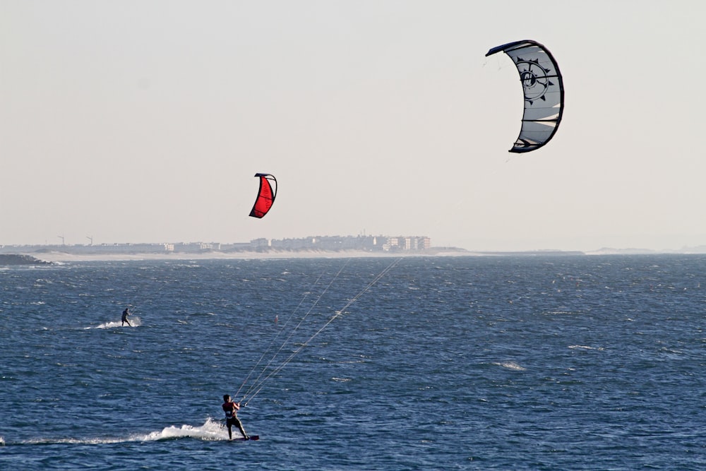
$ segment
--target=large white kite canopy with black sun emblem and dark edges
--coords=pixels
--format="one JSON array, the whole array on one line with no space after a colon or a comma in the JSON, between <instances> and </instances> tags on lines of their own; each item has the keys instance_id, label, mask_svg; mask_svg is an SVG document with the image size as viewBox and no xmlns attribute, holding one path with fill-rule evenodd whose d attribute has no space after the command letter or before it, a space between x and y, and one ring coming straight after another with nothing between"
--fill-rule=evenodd
<instances>
[{"instance_id":1,"label":"large white kite canopy with black sun emblem and dark edges","mask_svg":"<svg viewBox=\"0 0 706 471\"><path fill-rule=\"evenodd\" d=\"M487 56L505 52L515 62L525 93L522 129L510 152L539 149L554 137L564 110L564 83L554 56L539 42L509 42Z\"/></svg>"}]
</instances>

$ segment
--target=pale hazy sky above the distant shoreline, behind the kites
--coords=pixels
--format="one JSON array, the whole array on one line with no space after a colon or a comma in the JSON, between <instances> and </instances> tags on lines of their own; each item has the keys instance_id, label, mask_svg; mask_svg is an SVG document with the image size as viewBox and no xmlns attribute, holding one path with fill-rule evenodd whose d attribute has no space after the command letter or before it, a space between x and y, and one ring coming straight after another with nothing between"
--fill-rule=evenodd
<instances>
[{"instance_id":1,"label":"pale hazy sky above the distant shoreline, behind the kites","mask_svg":"<svg viewBox=\"0 0 706 471\"><path fill-rule=\"evenodd\" d=\"M0 244L706 244L706 2L0 0ZM553 141L508 153L545 44ZM280 184L249 217L256 172Z\"/></svg>"}]
</instances>

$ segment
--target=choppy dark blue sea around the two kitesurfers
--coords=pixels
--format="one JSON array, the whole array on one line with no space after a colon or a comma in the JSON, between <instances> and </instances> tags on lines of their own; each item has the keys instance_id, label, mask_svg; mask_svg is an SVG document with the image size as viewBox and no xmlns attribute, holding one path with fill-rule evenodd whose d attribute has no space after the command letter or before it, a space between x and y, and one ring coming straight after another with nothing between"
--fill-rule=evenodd
<instances>
[{"instance_id":1,"label":"choppy dark blue sea around the two kitesurfers","mask_svg":"<svg viewBox=\"0 0 706 471\"><path fill-rule=\"evenodd\" d=\"M705 470L705 324L703 255L4 267L0 469Z\"/></svg>"}]
</instances>

